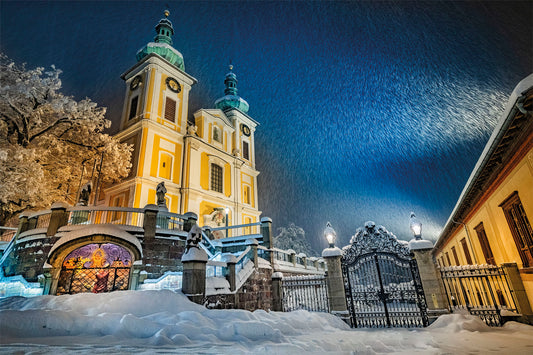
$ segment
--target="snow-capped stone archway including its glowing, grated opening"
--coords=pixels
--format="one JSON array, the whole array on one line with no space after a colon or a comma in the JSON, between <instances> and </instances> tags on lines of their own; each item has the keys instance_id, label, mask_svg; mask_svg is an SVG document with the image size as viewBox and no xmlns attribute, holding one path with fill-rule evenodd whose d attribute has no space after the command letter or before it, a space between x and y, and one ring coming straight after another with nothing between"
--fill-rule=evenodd
<instances>
[{"instance_id":1,"label":"snow-capped stone archway including its glowing, grated opening","mask_svg":"<svg viewBox=\"0 0 533 355\"><path fill-rule=\"evenodd\" d=\"M136 288L140 242L116 227L91 226L62 233L48 255L45 294L112 292Z\"/></svg>"}]
</instances>

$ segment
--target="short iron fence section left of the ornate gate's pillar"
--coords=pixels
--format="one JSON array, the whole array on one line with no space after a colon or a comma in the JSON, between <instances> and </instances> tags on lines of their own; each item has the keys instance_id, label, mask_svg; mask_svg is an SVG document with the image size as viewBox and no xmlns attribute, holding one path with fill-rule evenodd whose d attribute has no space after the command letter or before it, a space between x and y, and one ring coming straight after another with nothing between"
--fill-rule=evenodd
<instances>
[{"instance_id":1,"label":"short iron fence section left of the ornate gate's pillar","mask_svg":"<svg viewBox=\"0 0 533 355\"><path fill-rule=\"evenodd\" d=\"M288 276L282 279L283 312L304 309L329 312L326 277L322 275Z\"/></svg>"}]
</instances>

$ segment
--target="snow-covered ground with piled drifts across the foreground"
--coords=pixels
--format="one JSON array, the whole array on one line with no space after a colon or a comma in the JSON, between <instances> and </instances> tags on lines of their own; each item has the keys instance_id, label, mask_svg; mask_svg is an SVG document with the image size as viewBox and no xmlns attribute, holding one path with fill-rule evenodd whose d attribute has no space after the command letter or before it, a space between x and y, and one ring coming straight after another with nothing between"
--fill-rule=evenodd
<instances>
[{"instance_id":1,"label":"snow-covered ground with piled drifts across the foreground","mask_svg":"<svg viewBox=\"0 0 533 355\"><path fill-rule=\"evenodd\" d=\"M532 354L533 327L452 314L426 329L350 329L325 313L207 310L172 291L0 300L0 353Z\"/></svg>"}]
</instances>

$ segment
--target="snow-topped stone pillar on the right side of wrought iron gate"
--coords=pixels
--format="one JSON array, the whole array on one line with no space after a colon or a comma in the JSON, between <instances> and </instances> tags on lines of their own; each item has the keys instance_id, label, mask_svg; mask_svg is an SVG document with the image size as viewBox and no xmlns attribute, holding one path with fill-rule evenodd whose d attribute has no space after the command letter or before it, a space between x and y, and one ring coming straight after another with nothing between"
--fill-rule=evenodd
<instances>
[{"instance_id":1,"label":"snow-topped stone pillar on the right side of wrought iron gate","mask_svg":"<svg viewBox=\"0 0 533 355\"><path fill-rule=\"evenodd\" d=\"M433 243L429 240L412 239L409 242L409 248L415 255L418 265L418 273L428 307L429 324L431 324L440 315L449 313L448 298L442 277L431 255Z\"/></svg>"}]
</instances>

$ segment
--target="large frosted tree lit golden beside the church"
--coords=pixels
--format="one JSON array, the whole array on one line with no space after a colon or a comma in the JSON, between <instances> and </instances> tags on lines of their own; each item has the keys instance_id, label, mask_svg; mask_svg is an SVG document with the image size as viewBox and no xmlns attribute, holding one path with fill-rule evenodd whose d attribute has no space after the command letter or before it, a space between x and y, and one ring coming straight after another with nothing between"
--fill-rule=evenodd
<instances>
[{"instance_id":1,"label":"large frosted tree lit golden beside the church","mask_svg":"<svg viewBox=\"0 0 533 355\"><path fill-rule=\"evenodd\" d=\"M62 94L60 74L0 54L0 225L26 209L76 202L102 155L102 183L131 167L132 148L104 133L105 108Z\"/></svg>"}]
</instances>

